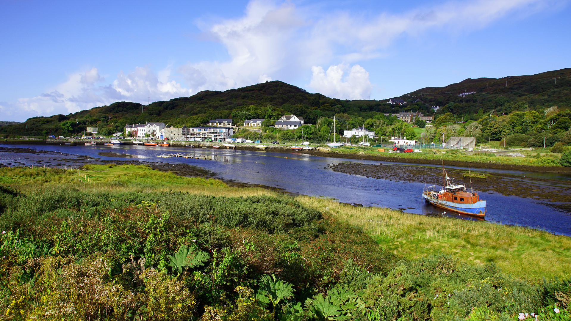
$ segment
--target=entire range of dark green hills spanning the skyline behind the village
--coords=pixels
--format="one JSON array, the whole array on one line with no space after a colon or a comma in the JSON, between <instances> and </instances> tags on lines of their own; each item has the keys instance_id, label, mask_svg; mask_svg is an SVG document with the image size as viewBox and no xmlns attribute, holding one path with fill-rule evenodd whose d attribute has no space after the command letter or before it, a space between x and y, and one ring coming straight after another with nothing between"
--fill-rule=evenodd
<instances>
[{"instance_id":1,"label":"entire range of dark green hills spanning the skyline behind the village","mask_svg":"<svg viewBox=\"0 0 571 321\"><path fill-rule=\"evenodd\" d=\"M440 106L436 118L447 112L464 120L478 120L482 115L508 114L513 111L539 110L558 106L571 107L571 68L542 72L530 76L466 79L445 87L425 87L397 97L405 105L385 100L340 100L280 82L259 83L227 91L201 91L190 97L155 101L149 105L118 101L89 110L31 117L24 123L0 127L4 136L73 135L86 127L98 127L110 135L122 131L126 124L162 121L176 127L203 125L210 119L232 118L235 124L252 118L277 120L288 114L316 124L320 117L338 115L347 126L362 125L364 120L381 117L381 113L420 111L432 113ZM507 82L507 87L506 87ZM460 95L462 93L470 93ZM354 121L352 121L354 120ZM345 127L345 125L343 125ZM344 129L344 128L343 128Z\"/></svg>"}]
</instances>

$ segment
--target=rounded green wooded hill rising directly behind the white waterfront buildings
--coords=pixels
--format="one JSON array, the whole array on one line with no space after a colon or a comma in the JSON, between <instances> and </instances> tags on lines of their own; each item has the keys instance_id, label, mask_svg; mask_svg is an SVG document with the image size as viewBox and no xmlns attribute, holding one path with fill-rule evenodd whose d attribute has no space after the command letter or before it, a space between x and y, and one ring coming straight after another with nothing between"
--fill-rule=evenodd
<instances>
[{"instance_id":1,"label":"rounded green wooded hill rising directly behind the white waterfront buildings","mask_svg":"<svg viewBox=\"0 0 571 321\"><path fill-rule=\"evenodd\" d=\"M340 100L307 91L284 82L255 84L227 91L201 91L190 97L155 101L150 105L118 101L69 115L31 117L27 129L23 123L0 128L0 133L14 136L72 135L86 127L99 127L110 135L122 131L126 124L162 121L182 126L202 125L210 119L232 118L234 123L246 119L277 120L283 115L304 117L305 123L315 124L319 117L337 113L372 118L379 113L398 112L400 106L378 100Z\"/></svg>"}]
</instances>

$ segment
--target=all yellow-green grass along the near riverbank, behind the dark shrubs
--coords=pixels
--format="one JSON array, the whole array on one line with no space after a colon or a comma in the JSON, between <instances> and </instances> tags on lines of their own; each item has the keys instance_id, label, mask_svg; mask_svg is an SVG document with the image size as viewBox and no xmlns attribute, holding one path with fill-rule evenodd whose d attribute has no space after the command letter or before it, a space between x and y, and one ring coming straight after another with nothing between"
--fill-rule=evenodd
<instances>
[{"instance_id":1,"label":"all yellow-green grass along the near riverbank, behind the dark shrubs","mask_svg":"<svg viewBox=\"0 0 571 321\"><path fill-rule=\"evenodd\" d=\"M262 188L231 188L221 181L179 177L147 166L87 165L89 169L0 168L0 182L21 192L38 184L73 184L93 192L130 189L139 192L180 190L212 196L275 195ZM78 173L79 172L79 173ZM87 182L87 178L90 178ZM81 181L80 181L81 179ZM381 208L357 208L334 200L299 196L297 201L357 226L381 247L407 259L449 254L473 265L496 263L523 278L569 276L571 238L524 227L402 213Z\"/></svg>"}]
</instances>

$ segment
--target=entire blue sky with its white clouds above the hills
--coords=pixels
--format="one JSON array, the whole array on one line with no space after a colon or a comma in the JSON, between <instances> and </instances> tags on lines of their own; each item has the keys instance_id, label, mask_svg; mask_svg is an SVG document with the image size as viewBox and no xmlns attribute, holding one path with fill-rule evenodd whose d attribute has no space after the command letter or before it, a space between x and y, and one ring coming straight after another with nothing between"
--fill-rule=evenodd
<instances>
[{"instance_id":1,"label":"entire blue sky with its white clouds above the hills","mask_svg":"<svg viewBox=\"0 0 571 321\"><path fill-rule=\"evenodd\" d=\"M2 0L0 120L265 80L387 99L567 68L569 2Z\"/></svg>"}]
</instances>

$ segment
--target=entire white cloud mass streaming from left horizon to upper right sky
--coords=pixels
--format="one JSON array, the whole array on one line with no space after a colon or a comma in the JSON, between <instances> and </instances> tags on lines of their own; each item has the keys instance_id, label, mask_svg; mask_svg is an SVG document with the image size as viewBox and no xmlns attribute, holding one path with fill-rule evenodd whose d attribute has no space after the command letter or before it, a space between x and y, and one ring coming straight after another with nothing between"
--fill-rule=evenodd
<instances>
[{"instance_id":1,"label":"entire white cloud mass streaming from left horizon to upper right sky","mask_svg":"<svg viewBox=\"0 0 571 321\"><path fill-rule=\"evenodd\" d=\"M324 13L315 6L295 6L289 1L252 0L242 17L200 23L211 39L224 46L226 60L187 62L158 73L135 67L107 83L94 67L70 75L45 94L0 103L0 110L4 115L69 113L118 100L146 103L147 97L168 100L272 79L299 81L307 79L310 71L310 86L322 94L362 99L369 97L372 85L368 72L355 63L386 56L391 44L404 35L472 31L508 15L529 15L561 1L565 0L456 0L400 14L365 15ZM348 64L354 64L350 70ZM316 66L330 67L325 72ZM186 84L173 80L173 73L182 75Z\"/></svg>"}]
</instances>

